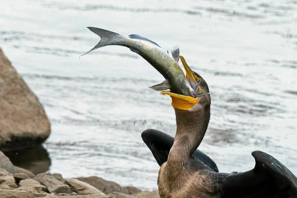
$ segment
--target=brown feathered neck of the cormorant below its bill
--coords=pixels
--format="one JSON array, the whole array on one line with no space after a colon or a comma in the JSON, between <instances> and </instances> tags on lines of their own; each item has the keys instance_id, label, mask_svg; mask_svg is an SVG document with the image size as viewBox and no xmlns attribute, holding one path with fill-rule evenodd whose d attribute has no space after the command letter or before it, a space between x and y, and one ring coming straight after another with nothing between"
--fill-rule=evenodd
<instances>
[{"instance_id":1,"label":"brown feathered neck of the cormorant below its bill","mask_svg":"<svg viewBox=\"0 0 297 198\"><path fill-rule=\"evenodd\" d=\"M210 118L210 103L198 104L192 111L175 109L176 135L167 166L170 176L177 176L189 164L189 158L200 145Z\"/></svg>"}]
</instances>

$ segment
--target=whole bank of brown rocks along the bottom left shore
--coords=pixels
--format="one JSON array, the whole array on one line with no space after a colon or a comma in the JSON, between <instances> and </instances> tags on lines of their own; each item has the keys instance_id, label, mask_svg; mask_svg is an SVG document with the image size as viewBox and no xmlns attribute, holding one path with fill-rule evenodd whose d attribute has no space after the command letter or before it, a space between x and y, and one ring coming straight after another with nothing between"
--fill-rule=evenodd
<instances>
[{"instance_id":1,"label":"whole bank of brown rocks along the bottom left shore","mask_svg":"<svg viewBox=\"0 0 297 198\"><path fill-rule=\"evenodd\" d=\"M159 197L158 191L141 191L92 176L63 178L59 173L34 175L29 170L14 166L0 151L0 197L31 198L137 198Z\"/></svg>"}]
</instances>

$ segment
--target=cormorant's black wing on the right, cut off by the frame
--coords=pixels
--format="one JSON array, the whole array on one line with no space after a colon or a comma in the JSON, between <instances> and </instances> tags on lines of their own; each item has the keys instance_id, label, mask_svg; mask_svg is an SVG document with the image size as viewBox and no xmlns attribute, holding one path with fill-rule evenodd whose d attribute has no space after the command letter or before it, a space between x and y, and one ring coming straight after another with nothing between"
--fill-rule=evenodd
<instances>
[{"instance_id":1,"label":"cormorant's black wing on the right, cut off by the frame","mask_svg":"<svg viewBox=\"0 0 297 198\"><path fill-rule=\"evenodd\" d=\"M222 197L297 197L297 178L274 157L252 152L255 168L218 182Z\"/></svg>"}]
</instances>

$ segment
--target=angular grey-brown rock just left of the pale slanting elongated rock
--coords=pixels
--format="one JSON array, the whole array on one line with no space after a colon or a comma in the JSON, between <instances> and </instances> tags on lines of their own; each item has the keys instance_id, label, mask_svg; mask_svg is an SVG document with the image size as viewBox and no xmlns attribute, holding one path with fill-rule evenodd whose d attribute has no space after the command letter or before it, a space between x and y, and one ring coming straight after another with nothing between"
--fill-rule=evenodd
<instances>
[{"instance_id":1,"label":"angular grey-brown rock just left of the pale slanting elongated rock","mask_svg":"<svg viewBox=\"0 0 297 198\"><path fill-rule=\"evenodd\" d=\"M54 178L51 175L48 174L39 174L36 175L34 177L34 180L37 180L39 182L41 182L43 185L45 185L48 188L48 191L50 193L70 193L72 192L70 190L70 187L63 184L62 182L60 182L59 180L57 180L56 178Z\"/></svg>"}]
</instances>

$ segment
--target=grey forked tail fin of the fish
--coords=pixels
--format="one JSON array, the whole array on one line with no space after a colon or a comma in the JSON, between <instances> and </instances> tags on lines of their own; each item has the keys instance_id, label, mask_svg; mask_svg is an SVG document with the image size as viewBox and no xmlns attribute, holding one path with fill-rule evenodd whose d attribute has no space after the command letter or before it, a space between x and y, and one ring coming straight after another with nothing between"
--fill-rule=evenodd
<instances>
[{"instance_id":1,"label":"grey forked tail fin of the fish","mask_svg":"<svg viewBox=\"0 0 297 198\"><path fill-rule=\"evenodd\" d=\"M104 47L107 45L123 45L124 44L124 40L125 37L122 36L121 34L112 32L112 31L108 31L108 30L104 30L104 29L100 29L100 28L94 28L94 27L87 27L89 30L91 30L92 32L94 32L95 34L97 34L101 40L99 41L99 43L93 47L90 51L88 51L87 53L96 50L97 48L100 47ZM87 53L83 54L86 55ZM81 55L81 56L83 56Z\"/></svg>"}]
</instances>

